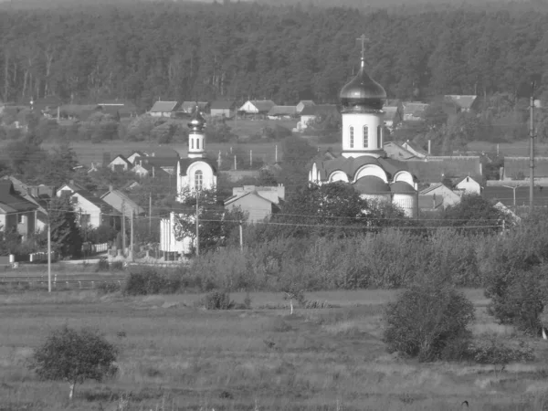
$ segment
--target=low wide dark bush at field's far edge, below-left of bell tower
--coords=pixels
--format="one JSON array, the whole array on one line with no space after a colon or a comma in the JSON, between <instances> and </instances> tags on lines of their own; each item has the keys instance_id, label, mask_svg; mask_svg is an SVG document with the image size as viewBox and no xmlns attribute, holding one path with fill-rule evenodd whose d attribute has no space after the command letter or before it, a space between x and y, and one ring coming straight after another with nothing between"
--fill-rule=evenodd
<instances>
[{"instance_id":1,"label":"low wide dark bush at field's far edge, below-left of bell tower","mask_svg":"<svg viewBox=\"0 0 548 411\"><path fill-rule=\"evenodd\" d=\"M173 294L181 289L181 276L160 273L151 267L133 269L127 276L126 295Z\"/></svg>"}]
</instances>

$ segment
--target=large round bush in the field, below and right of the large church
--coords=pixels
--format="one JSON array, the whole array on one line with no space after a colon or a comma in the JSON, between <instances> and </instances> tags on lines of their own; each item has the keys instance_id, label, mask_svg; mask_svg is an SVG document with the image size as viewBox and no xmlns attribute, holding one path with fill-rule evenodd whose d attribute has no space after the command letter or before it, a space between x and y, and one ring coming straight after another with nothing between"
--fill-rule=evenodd
<instances>
[{"instance_id":1,"label":"large round bush in the field, below and right of the large church","mask_svg":"<svg viewBox=\"0 0 548 411\"><path fill-rule=\"evenodd\" d=\"M384 341L419 361L441 358L448 342L468 337L474 308L466 297L446 284L426 282L404 291L385 311Z\"/></svg>"}]
</instances>

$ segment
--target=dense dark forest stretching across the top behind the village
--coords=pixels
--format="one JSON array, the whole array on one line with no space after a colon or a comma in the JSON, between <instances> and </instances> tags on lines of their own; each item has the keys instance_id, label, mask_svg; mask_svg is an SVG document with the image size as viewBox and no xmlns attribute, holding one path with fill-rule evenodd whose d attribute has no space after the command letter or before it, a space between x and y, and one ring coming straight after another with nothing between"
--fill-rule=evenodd
<instances>
[{"instance_id":1,"label":"dense dark forest stretching across the top behind the village","mask_svg":"<svg viewBox=\"0 0 548 411\"><path fill-rule=\"evenodd\" d=\"M409 14L248 3L0 12L0 97L333 102L359 64L389 97L515 93L548 73L548 11ZM542 92L543 90L539 90Z\"/></svg>"}]
</instances>

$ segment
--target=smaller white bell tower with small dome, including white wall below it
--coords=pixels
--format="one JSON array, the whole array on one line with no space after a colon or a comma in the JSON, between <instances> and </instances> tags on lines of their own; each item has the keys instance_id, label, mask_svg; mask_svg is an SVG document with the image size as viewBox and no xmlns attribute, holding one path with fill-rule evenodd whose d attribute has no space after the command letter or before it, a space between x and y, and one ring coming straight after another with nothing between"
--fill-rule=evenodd
<instances>
[{"instance_id":1,"label":"smaller white bell tower with small dome, including white wall below it","mask_svg":"<svg viewBox=\"0 0 548 411\"><path fill-rule=\"evenodd\" d=\"M188 123L188 155L177 163L177 201L184 196L194 196L202 190L216 187L216 163L205 153L205 120L196 107L192 120ZM167 253L188 254L195 247L193 235L175 237L177 213L172 211L169 218L160 220L160 250Z\"/></svg>"}]
</instances>

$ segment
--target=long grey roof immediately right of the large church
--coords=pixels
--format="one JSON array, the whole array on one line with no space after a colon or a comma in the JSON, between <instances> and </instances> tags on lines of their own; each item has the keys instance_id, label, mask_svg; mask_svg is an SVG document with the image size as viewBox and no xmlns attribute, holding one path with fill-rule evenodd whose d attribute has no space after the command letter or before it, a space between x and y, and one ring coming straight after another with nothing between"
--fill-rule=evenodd
<instances>
[{"instance_id":1,"label":"long grey roof immediately right of the large church","mask_svg":"<svg viewBox=\"0 0 548 411\"><path fill-rule=\"evenodd\" d=\"M482 181L479 156L427 157L421 160L407 160L406 165L421 183L438 183L446 177L466 176Z\"/></svg>"}]
</instances>

